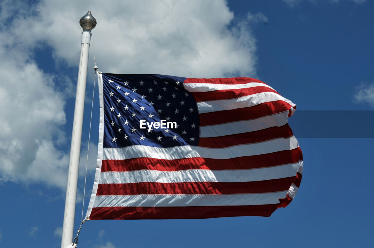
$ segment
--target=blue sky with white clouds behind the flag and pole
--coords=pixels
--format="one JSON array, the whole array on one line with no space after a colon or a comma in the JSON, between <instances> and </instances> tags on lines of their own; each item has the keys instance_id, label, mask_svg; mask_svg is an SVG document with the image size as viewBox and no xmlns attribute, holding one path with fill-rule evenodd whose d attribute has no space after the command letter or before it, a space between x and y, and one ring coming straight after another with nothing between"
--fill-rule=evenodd
<instances>
[{"instance_id":1,"label":"blue sky with white clouds behind the flag and pole","mask_svg":"<svg viewBox=\"0 0 374 248\"><path fill-rule=\"evenodd\" d=\"M92 220L78 247L369 247L373 9L370 0L1 1L0 247L61 245L79 19L88 10L97 26L74 230L86 164L84 214L96 167L95 61L109 73L264 81L297 104L289 123L304 172L295 199L271 217Z\"/></svg>"}]
</instances>

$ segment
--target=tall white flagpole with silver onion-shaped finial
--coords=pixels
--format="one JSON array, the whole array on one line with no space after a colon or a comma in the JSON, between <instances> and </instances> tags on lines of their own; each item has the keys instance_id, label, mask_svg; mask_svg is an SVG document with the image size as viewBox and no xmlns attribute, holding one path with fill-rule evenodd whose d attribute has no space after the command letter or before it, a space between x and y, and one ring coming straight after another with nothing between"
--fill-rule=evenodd
<instances>
[{"instance_id":1,"label":"tall white flagpole with silver onion-shaped finial","mask_svg":"<svg viewBox=\"0 0 374 248\"><path fill-rule=\"evenodd\" d=\"M87 12L80 18L83 28L80 50L80 62L77 80L77 95L75 99L73 133L71 136L68 184L66 189L64 224L62 226L61 248L67 248L73 243L74 216L77 198L80 145L82 141L83 111L85 107L88 53L91 42L91 30L96 26L96 19Z\"/></svg>"}]
</instances>

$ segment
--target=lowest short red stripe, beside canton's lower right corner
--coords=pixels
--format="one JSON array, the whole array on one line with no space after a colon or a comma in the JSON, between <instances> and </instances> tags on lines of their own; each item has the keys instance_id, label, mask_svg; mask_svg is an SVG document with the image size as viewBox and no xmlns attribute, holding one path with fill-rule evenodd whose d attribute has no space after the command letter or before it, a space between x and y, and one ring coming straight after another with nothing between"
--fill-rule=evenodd
<instances>
[{"instance_id":1,"label":"lowest short red stripe, beside canton's lower right corner","mask_svg":"<svg viewBox=\"0 0 374 248\"><path fill-rule=\"evenodd\" d=\"M287 138L292 135L293 134L291 128L288 124L286 124L281 127L269 127L266 129L248 133L238 133L226 136L200 138L199 146L209 148L223 148L227 146L261 142L279 137Z\"/></svg>"}]
</instances>

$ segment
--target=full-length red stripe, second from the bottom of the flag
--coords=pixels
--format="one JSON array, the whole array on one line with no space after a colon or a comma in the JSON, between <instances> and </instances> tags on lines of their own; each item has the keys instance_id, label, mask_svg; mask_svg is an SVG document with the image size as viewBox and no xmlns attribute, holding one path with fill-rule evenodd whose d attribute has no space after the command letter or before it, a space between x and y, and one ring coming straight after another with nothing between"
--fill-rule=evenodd
<instances>
[{"instance_id":1,"label":"full-length red stripe, second from the bottom of the flag","mask_svg":"<svg viewBox=\"0 0 374 248\"><path fill-rule=\"evenodd\" d=\"M222 195L268 193L288 190L295 180L296 176L239 183L108 183L99 184L96 195Z\"/></svg>"}]
</instances>

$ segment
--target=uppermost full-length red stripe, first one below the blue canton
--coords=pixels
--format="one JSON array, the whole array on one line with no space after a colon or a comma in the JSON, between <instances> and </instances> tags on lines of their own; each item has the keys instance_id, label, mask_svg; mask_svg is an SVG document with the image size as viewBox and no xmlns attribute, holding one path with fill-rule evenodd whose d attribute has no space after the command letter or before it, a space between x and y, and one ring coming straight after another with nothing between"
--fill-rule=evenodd
<instances>
[{"instance_id":1,"label":"uppermost full-length red stripe, first one below the blue canton","mask_svg":"<svg viewBox=\"0 0 374 248\"><path fill-rule=\"evenodd\" d=\"M169 160L156 158L132 158L125 160L103 160L101 171L179 171L191 169L243 170L291 164L298 162L300 159L302 159L302 154L301 149L298 147L293 150L230 159L184 158Z\"/></svg>"}]
</instances>

